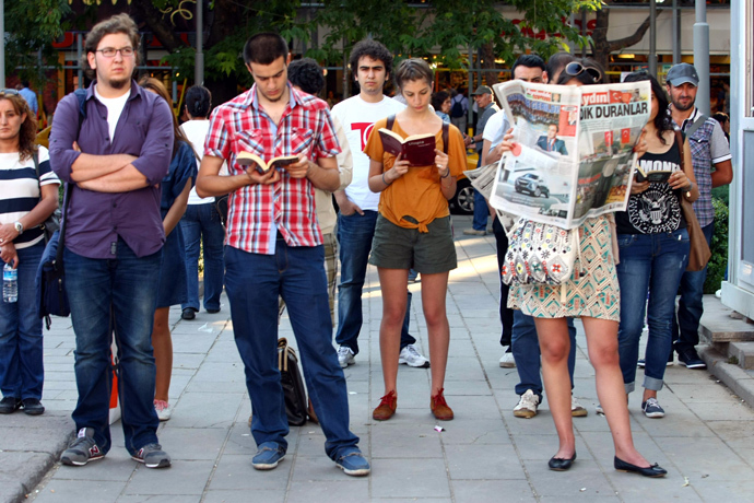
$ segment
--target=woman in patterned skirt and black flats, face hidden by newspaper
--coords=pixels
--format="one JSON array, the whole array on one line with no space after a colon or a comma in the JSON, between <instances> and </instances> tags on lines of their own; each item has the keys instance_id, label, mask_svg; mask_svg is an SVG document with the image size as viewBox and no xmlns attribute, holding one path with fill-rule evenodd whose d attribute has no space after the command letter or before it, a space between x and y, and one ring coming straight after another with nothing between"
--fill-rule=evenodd
<instances>
[{"instance_id":1,"label":"woman in patterned skirt and black flats, face hidden by newspaper","mask_svg":"<svg viewBox=\"0 0 754 503\"><path fill-rule=\"evenodd\" d=\"M590 85L604 82L599 66L582 59L568 63L557 84ZM504 150L511 150L513 134ZM620 292L612 250L609 218L588 219L579 229L580 270L559 286L520 284L510 290L508 306L534 317L542 351L542 375L559 438L557 453L549 466L567 470L576 460L576 438L570 414L568 351L570 341L566 317L580 317L587 335L589 360L594 366L597 394L602 403L615 446L614 467L645 477L663 477L667 471L650 465L634 447L628 408L618 364L617 327Z\"/></svg>"}]
</instances>

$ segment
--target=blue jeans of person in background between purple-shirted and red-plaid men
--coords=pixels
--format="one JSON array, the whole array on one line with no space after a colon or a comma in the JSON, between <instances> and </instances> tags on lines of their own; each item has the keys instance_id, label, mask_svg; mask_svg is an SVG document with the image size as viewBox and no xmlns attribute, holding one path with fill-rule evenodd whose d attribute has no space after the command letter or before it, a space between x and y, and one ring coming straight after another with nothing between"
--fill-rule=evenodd
<instances>
[{"instance_id":1,"label":"blue jeans of person in background between purple-shirted and red-plaid men","mask_svg":"<svg viewBox=\"0 0 754 503\"><path fill-rule=\"evenodd\" d=\"M199 311L199 242L204 247L204 309L220 309L220 294L223 293L225 259L223 241L225 230L214 203L189 204L180 219L186 246L187 307Z\"/></svg>"}]
</instances>

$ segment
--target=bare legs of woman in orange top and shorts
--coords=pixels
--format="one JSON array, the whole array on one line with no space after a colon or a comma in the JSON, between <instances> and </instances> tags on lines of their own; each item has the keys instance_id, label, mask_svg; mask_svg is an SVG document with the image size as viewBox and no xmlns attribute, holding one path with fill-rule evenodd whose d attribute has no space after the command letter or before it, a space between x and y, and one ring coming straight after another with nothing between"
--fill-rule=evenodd
<instances>
[{"instance_id":1,"label":"bare legs of woman in orange top and shorts","mask_svg":"<svg viewBox=\"0 0 754 503\"><path fill-rule=\"evenodd\" d=\"M382 292L382 321L379 326L379 352L382 360L385 395L394 391L398 381L398 355L400 353L401 327L405 315L405 289L409 284L408 269L377 268ZM436 395L445 383L448 362L450 328L445 311L448 291L448 273L422 273L422 304L429 336L429 360L432 361L432 395Z\"/></svg>"}]
</instances>

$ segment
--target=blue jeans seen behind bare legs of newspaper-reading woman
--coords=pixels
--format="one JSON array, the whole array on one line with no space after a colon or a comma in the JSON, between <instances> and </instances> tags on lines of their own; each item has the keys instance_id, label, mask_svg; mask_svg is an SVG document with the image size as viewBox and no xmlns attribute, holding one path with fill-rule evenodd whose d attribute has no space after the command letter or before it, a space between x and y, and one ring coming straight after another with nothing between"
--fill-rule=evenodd
<instances>
[{"instance_id":1,"label":"blue jeans seen behind bare legs of newspaper-reading woman","mask_svg":"<svg viewBox=\"0 0 754 503\"><path fill-rule=\"evenodd\" d=\"M574 366L576 365L576 327L574 318L568 320L568 338L570 339L570 352L568 353L568 374L570 375L570 389L574 388ZM534 391L542 401L542 376L540 375L541 361L540 342L537 337L534 318L520 311L514 311L513 334L514 360L520 383L516 385L516 395L523 395L527 389Z\"/></svg>"}]
</instances>

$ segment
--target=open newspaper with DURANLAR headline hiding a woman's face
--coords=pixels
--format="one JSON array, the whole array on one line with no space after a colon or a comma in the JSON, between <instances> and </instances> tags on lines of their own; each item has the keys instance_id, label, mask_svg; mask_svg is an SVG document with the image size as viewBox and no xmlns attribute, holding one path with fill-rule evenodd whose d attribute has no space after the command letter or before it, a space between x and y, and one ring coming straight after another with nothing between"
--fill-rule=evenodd
<instances>
[{"instance_id":1,"label":"open newspaper with DURANLAR headline hiding a woman's face","mask_svg":"<svg viewBox=\"0 0 754 503\"><path fill-rule=\"evenodd\" d=\"M500 160L490 203L564 229L625 211L647 124L649 82L494 85L514 126L514 149Z\"/></svg>"}]
</instances>

